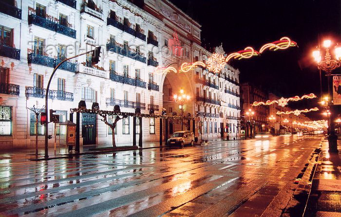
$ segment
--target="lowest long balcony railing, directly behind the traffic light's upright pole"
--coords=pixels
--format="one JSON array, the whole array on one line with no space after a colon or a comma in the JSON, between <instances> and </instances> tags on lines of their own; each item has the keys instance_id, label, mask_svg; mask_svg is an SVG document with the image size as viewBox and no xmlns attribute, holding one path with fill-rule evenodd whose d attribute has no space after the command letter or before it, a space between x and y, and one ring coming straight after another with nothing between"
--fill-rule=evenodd
<instances>
[{"instance_id":1,"label":"lowest long balcony railing, directly behind the traffic light's upright pole","mask_svg":"<svg viewBox=\"0 0 341 217\"><path fill-rule=\"evenodd\" d=\"M26 97L45 98L46 89L36 87L26 87ZM62 90L49 90L49 99L57 99L62 101L74 101L74 94L72 92L65 92Z\"/></svg>"}]
</instances>

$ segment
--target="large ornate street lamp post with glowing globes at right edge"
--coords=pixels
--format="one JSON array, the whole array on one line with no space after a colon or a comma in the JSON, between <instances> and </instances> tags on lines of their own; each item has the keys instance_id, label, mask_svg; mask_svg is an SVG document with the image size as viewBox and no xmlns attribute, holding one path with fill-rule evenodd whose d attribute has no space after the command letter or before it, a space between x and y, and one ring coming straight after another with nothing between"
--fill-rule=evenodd
<instances>
[{"instance_id":1,"label":"large ornate street lamp post with glowing globes at right edge","mask_svg":"<svg viewBox=\"0 0 341 217\"><path fill-rule=\"evenodd\" d=\"M329 119L329 136L328 136L328 143L329 143L329 152L336 152L338 153L338 145L337 145L337 135L335 134L335 124L334 124L334 115L333 112L333 103L332 103L332 74L331 72L338 67L340 67L340 57L341 57L341 47L335 48L335 56L336 59L332 59L329 51L329 47L331 46L331 40L324 40L323 47L325 48L325 56L324 60L321 58L320 49L313 52L313 57L317 62L317 67L320 70L326 72L326 76L328 77L328 95L329 100L328 104L330 105L330 119Z\"/></svg>"}]
</instances>

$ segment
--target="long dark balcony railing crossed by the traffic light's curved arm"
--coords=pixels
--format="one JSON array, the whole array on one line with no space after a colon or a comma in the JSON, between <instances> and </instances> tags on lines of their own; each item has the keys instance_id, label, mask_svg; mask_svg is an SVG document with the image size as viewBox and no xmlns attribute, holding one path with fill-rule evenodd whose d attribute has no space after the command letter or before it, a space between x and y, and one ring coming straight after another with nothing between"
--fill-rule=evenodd
<instances>
[{"instance_id":1,"label":"long dark balcony railing crossed by the traffic light's curved arm","mask_svg":"<svg viewBox=\"0 0 341 217\"><path fill-rule=\"evenodd\" d=\"M28 54L27 55L27 62L47 66L51 68L55 68L62 60L61 59L55 59L49 56L44 56L40 54ZM71 62L63 62L58 69L69 71L69 72L76 72L76 63Z\"/></svg>"}]
</instances>

